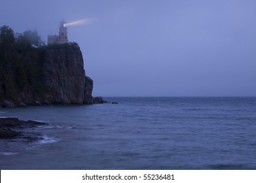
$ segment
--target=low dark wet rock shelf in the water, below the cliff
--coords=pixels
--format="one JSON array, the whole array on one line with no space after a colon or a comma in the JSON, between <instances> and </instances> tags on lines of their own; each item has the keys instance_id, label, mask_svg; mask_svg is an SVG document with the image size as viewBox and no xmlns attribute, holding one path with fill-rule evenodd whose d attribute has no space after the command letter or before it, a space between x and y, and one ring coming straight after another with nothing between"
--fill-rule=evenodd
<instances>
[{"instance_id":1,"label":"low dark wet rock shelf in the water, below the cliff","mask_svg":"<svg viewBox=\"0 0 256 183\"><path fill-rule=\"evenodd\" d=\"M0 139L40 140L39 137L33 133L25 133L26 129L33 129L39 125L48 124L32 120L24 121L18 118L0 118Z\"/></svg>"}]
</instances>

